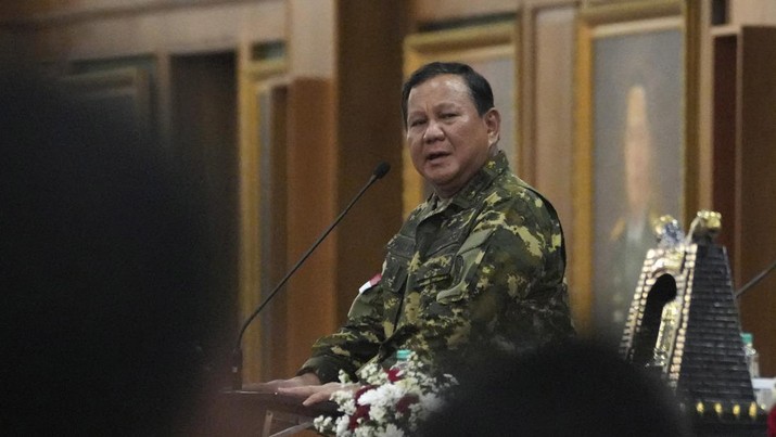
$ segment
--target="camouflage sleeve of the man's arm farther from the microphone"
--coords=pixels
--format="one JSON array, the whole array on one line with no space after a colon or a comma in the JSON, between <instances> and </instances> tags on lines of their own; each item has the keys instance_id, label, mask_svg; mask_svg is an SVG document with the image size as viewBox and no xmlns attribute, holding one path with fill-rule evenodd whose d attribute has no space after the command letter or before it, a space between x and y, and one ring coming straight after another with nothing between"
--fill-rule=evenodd
<instances>
[{"instance_id":1,"label":"camouflage sleeve of the man's arm farther from the microphone","mask_svg":"<svg viewBox=\"0 0 776 437\"><path fill-rule=\"evenodd\" d=\"M574 332L560 227L540 200L534 202L534 208L496 228L468 281L473 320L484 327L496 318L498 335L518 350L560 340ZM498 303L497 309L485 310L492 301Z\"/></svg>"}]
</instances>

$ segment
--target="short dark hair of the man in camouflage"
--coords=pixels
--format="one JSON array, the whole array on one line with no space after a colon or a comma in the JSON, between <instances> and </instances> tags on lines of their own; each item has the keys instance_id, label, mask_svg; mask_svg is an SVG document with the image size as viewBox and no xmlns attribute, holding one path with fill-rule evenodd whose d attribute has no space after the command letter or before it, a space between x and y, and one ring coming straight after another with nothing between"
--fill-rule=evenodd
<instances>
[{"instance_id":1,"label":"short dark hair of the man in camouflage","mask_svg":"<svg viewBox=\"0 0 776 437\"><path fill-rule=\"evenodd\" d=\"M432 62L418 68L409 76L402 88L402 116L404 126L407 127L407 100L412 88L440 75L456 75L463 79L469 88L469 93L474 101L476 112L480 116L485 115L493 107L493 90L487 79L482 77L472 67L459 62Z\"/></svg>"}]
</instances>

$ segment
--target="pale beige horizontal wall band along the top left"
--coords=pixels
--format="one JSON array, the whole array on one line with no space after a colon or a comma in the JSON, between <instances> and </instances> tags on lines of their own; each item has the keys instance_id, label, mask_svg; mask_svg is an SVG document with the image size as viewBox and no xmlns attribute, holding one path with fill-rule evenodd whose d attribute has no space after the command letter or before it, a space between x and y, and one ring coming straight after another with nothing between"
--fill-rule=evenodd
<instances>
[{"instance_id":1,"label":"pale beige horizontal wall band along the top left","mask_svg":"<svg viewBox=\"0 0 776 437\"><path fill-rule=\"evenodd\" d=\"M82 3L88 4L52 7L13 24L21 35L35 37L38 56L44 60L214 51L233 49L245 39L282 40L287 35L281 0L199 2L188 8L162 0L120 7L112 1Z\"/></svg>"}]
</instances>

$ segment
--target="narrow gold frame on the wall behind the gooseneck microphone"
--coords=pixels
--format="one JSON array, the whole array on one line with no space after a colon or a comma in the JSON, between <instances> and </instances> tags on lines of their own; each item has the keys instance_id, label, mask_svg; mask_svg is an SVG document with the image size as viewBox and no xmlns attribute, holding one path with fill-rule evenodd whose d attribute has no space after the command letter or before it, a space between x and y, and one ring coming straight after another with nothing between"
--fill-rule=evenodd
<instances>
[{"instance_id":1,"label":"narrow gold frame on the wall behind the gooseneck microphone","mask_svg":"<svg viewBox=\"0 0 776 437\"><path fill-rule=\"evenodd\" d=\"M247 317L266 298L285 271L287 220L283 202L288 146L288 61L278 43L242 41L238 52L240 252L239 318ZM282 372L285 300L256 321L242 338L244 381L266 381Z\"/></svg>"}]
</instances>

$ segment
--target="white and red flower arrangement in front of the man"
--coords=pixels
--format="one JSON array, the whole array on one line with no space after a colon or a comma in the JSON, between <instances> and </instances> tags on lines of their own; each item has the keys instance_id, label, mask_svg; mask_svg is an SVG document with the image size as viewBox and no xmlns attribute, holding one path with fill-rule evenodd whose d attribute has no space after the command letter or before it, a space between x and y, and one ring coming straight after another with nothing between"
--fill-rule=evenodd
<instances>
[{"instance_id":1,"label":"white and red flower arrangement in front of the man","mask_svg":"<svg viewBox=\"0 0 776 437\"><path fill-rule=\"evenodd\" d=\"M458 384L451 375L434 377L425 368L415 354L403 367L365 365L358 371L358 390L344 389L331 396L342 415L318 416L315 428L338 437L412 435L429 414L443 407L445 391ZM342 371L340 382L352 384Z\"/></svg>"}]
</instances>

